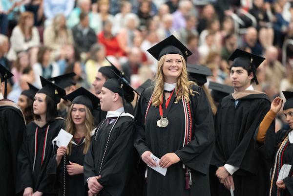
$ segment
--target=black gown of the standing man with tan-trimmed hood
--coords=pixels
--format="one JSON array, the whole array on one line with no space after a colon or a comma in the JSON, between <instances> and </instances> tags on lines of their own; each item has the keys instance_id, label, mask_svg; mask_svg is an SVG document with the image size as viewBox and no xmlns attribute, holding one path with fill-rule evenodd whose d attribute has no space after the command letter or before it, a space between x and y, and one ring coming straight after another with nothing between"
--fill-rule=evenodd
<instances>
[{"instance_id":1,"label":"black gown of the standing man with tan-trimmed hood","mask_svg":"<svg viewBox=\"0 0 293 196\"><path fill-rule=\"evenodd\" d=\"M234 196L267 196L269 163L254 148L254 133L270 110L265 94L250 94L235 100L230 94L223 98L215 118L216 145L211 165L226 163L239 167L233 174ZM269 130L274 130L274 123ZM219 196L230 196L230 190L218 182Z\"/></svg>"}]
</instances>

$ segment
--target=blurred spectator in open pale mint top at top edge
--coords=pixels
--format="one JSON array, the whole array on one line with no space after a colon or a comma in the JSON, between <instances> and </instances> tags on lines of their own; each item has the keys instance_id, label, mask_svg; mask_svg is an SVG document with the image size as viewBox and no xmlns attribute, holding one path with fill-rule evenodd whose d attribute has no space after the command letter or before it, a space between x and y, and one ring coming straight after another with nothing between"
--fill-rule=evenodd
<instances>
[{"instance_id":1,"label":"blurred spectator in open pale mint top at top edge","mask_svg":"<svg viewBox=\"0 0 293 196\"><path fill-rule=\"evenodd\" d=\"M99 22L97 13L90 11L91 1L90 0L77 0L77 7L72 10L68 19L67 26L73 28L80 23L80 14L82 12L88 14L89 27L94 29L95 33L100 32L102 29L101 22Z\"/></svg>"}]
</instances>

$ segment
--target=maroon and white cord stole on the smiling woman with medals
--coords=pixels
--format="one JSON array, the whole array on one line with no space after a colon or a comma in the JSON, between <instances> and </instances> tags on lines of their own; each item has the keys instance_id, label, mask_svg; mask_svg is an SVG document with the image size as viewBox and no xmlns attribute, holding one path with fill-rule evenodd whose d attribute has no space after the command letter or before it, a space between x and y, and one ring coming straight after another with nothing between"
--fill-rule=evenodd
<instances>
[{"instance_id":1,"label":"maroon and white cord stole on the smiling woman with medals","mask_svg":"<svg viewBox=\"0 0 293 196\"><path fill-rule=\"evenodd\" d=\"M148 110L151 106L152 102L152 97L151 95L147 107L146 107L146 114L145 114L145 126L146 126L146 116L148 113ZM185 129L184 129L184 141L183 141L183 146L184 148L186 145L188 145L191 141L191 130L192 130L192 119L191 119L191 112L190 112L190 104L185 100L185 98L182 95L182 105L183 105L183 110L184 110L184 118L185 118ZM183 164L182 166L185 169L185 189L190 189L190 185L192 183L191 181L191 170Z\"/></svg>"}]
</instances>

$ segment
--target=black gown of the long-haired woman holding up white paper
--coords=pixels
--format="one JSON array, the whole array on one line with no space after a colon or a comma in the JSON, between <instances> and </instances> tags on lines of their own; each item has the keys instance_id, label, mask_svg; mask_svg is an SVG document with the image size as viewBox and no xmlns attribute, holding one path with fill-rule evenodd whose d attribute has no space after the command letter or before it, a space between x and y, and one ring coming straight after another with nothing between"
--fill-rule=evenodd
<instances>
[{"instance_id":1,"label":"black gown of the long-haired woman holding up white paper","mask_svg":"<svg viewBox=\"0 0 293 196\"><path fill-rule=\"evenodd\" d=\"M57 180L59 181L59 193L58 196L63 196L63 169L64 169L64 156L57 167L56 152L58 146L54 141L54 154L50 160L48 174L57 174ZM84 165L84 142L77 144L72 142L71 154L65 157L65 166L70 162ZM56 173L57 172L57 173ZM69 175L65 168L65 195L66 196L87 196L87 191L84 186L84 174Z\"/></svg>"}]
</instances>

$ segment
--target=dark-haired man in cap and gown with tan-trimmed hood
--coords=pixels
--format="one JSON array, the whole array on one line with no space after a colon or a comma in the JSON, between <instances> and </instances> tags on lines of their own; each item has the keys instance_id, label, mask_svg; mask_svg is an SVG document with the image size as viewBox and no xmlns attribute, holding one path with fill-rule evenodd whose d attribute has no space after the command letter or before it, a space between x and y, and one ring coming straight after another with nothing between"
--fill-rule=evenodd
<instances>
[{"instance_id":1,"label":"dark-haired man in cap and gown with tan-trimmed hood","mask_svg":"<svg viewBox=\"0 0 293 196\"><path fill-rule=\"evenodd\" d=\"M267 196L267 163L254 149L253 136L270 110L268 96L253 89L262 57L236 49L230 56L234 92L221 101L215 117L216 145L211 165L216 166L219 196ZM274 125L269 131L274 131Z\"/></svg>"}]
</instances>

